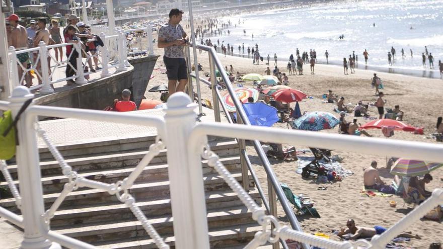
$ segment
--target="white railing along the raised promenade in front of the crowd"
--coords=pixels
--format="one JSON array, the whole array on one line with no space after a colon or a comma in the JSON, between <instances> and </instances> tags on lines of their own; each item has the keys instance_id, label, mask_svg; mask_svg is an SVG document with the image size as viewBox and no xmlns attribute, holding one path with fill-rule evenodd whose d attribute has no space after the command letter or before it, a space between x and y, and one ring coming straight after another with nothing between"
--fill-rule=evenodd
<instances>
[{"instance_id":1,"label":"white railing along the raised promenade in front of the crowd","mask_svg":"<svg viewBox=\"0 0 443 249\"><path fill-rule=\"evenodd\" d=\"M94 26L93 26L94 27ZM75 80L76 84L83 85L88 82L89 74L94 71L101 71L101 76L109 76L109 69L116 67L117 71L124 71L129 66L127 60L128 52L126 35L129 32L142 30L145 32L149 44L149 55L154 55L152 44L152 28L134 29L129 31L118 30L113 35L107 35L109 30L101 27L97 31L104 46L97 46L97 51L87 52L82 43L61 43L46 45L41 41L38 47L17 51L14 47L9 47L9 60L11 65L11 89L25 85L31 91L41 89L40 93L50 94L54 92L53 84L66 80ZM149 32L151 30L151 32ZM106 33L105 33L106 32ZM90 39L87 42L94 42ZM69 55L64 60L55 57L54 49L73 46ZM146 50L147 51L147 50ZM29 60L21 63L17 55L29 55ZM73 57L74 56L74 57ZM43 59L47 58L47 59ZM61 56L59 57L61 58ZM74 59L75 58L75 59ZM28 66L27 66L28 65ZM100 65L100 66L99 66ZM73 71L72 76L66 77L66 67ZM98 69L100 68L100 69ZM80 70L79 70L80 69Z\"/></svg>"}]
</instances>

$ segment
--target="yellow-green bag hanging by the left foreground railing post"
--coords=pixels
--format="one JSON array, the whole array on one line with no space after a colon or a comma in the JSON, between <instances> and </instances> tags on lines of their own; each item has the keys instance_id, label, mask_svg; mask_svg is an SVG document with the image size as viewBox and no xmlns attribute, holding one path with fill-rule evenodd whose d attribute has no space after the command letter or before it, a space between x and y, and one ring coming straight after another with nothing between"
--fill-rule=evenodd
<instances>
[{"instance_id":1,"label":"yellow-green bag hanging by the left foreground railing post","mask_svg":"<svg viewBox=\"0 0 443 249\"><path fill-rule=\"evenodd\" d=\"M11 111L3 113L0 120L0 159L9 160L16 154L16 129Z\"/></svg>"}]
</instances>

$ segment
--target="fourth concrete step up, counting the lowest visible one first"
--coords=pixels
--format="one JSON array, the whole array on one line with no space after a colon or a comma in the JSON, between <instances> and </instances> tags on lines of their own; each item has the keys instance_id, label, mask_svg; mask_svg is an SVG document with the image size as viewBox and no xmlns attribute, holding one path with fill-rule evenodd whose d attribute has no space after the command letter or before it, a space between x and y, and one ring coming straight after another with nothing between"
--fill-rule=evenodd
<instances>
[{"instance_id":1,"label":"fourth concrete step up, counting the lowest visible one first","mask_svg":"<svg viewBox=\"0 0 443 249\"><path fill-rule=\"evenodd\" d=\"M242 183L241 173L233 173L232 176L239 182ZM224 189L229 189L229 186L225 183L223 178L217 174L208 174L203 177L205 192L208 191L220 191ZM249 175L249 185L254 187L252 176ZM140 183L134 184L130 189L129 193L135 199L164 199L169 198L169 181L152 182L152 183ZM59 193L45 194L43 195L43 201L45 207L49 208L50 205L59 196ZM88 204L100 204L118 202L115 195L109 195L107 192L98 189L87 189L87 190L77 190L69 193L64 199L61 207L74 208L77 205L88 205ZM13 212L18 212L19 210L15 206L15 200L13 198L0 200L0 206L10 209Z\"/></svg>"}]
</instances>

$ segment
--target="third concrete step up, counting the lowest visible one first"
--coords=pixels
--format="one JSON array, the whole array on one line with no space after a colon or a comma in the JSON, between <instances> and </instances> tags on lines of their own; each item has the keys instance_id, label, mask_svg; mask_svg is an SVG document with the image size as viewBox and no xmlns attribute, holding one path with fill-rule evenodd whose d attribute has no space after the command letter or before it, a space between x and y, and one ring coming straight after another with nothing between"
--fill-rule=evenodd
<instances>
[{"instance_id":1,"label":"third concrete step up, counting the lowest visible one first","mask_svg":"<svg viewBox=\"0 0 443 249\"><path fill-rule=\"evenodd\" d=\"M250 191L249 195L255 200L256 203L259 205L261 204L258 191ZM230 190L207 193L205 195L205 199L207 210L243 205L238 196ZM146 201L136 200L136 203L147 217L160 215L171 216L172 213L170 199ZM100 206L84 206L80 208L56 211L55 216L51 219L51 227L91 224L98 222L106 223L115 221L116 217L118 217L119 221L136 219L131 210L122 203L103 204Z\"/></svg>"}]
</instances>

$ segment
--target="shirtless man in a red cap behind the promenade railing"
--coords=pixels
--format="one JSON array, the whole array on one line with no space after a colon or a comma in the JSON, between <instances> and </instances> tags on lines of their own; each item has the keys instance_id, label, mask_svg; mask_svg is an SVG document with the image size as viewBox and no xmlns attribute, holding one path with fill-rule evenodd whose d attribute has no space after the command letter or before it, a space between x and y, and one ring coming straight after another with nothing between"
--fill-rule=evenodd
<instances>
[{"instance_id":1,"label":"shirtless man in a red cap behind the promenade railing","mask_svg":"<svg viewBox=\"0 0 443 249\"><path fill-rule=\"evenodd\" d=\"M9 21L11 26L11 32L9 32L8 36L8 45L16 48L17 51L27 49L28 48L28 33L26 32L25 27L19 24L19 16L16 14L12 14L9 16L6 21ZM18 62L23 66L23 68L28 67L29 61L29 53L20 53L17 54ZM19 80L22 78L23 69L21 66L18 66L19 72ZM32 86L31 75L29 73L25 74L26 87Z\"/></svg>"}]
</instances>

